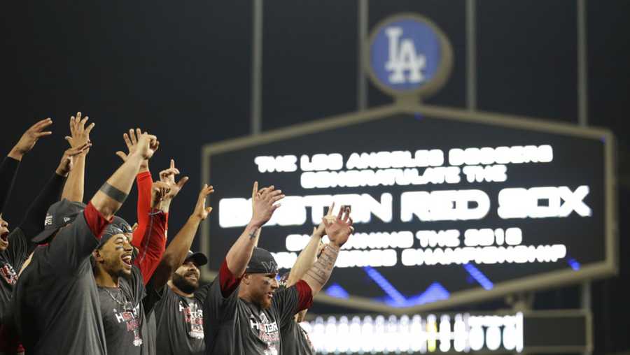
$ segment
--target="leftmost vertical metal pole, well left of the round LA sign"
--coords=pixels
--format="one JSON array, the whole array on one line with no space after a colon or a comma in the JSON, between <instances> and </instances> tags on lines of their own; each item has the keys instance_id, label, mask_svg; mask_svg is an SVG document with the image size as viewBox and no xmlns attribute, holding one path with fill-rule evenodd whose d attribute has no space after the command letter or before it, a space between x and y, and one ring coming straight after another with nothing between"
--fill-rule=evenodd
<instances>
[{"instance_id":1,"label":"leftmost vertical metal pole, well left of the round LA sign","mask_svg":"<svg viewBox=\"0 0 630 355\"><path fill-rule=\"evenodd\" d=\"M262 130L262 0L252 0L251 134Z\"/></svg>"}]
</instances>

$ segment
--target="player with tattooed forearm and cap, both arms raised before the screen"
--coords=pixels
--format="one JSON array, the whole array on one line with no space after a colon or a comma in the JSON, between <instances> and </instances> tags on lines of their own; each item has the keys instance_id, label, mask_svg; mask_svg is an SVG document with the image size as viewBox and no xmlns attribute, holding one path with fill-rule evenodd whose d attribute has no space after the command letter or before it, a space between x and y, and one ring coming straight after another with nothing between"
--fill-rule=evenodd
<instances>
[{"instance_id":1,"label":"player with tattooed forearm and cap, both arms raised before the screen","mask_svg":"<svg viewBox=\"0 0 630 355\"><path fill-rule=\"evenodd\" d=\"M324 219L332 247L304 280L276 291L276 261L255 243L256 232L269 221L278 208L275 203L283 197L273 186L255 194L251 221L230 248L204 303L206 354L281 354L279 329L310 307L312 295L328 280L339 248L351 234L349 209L340 211L334 221Z\"/></svg>"}]
</instances>

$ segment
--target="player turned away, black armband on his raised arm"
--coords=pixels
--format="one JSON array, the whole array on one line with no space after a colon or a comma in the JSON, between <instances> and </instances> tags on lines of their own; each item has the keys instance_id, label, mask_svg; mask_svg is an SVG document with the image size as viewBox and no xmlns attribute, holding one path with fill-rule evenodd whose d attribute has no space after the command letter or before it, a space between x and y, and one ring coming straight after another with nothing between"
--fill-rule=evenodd
<instances>
[{"instance_id":1,"label":"player turned away, black armband on his raised arm","mask_svg":"<svg viewBox=\"0 0 630 355\"><path fill-rule=\"evenodd\" d=\"M67 200L48 209L31 264L15 286L15 320L28 354L107 354L90 256L123 205L157 138L139 137L138 149L87 206Z\"/></svg>"}]
</instances>

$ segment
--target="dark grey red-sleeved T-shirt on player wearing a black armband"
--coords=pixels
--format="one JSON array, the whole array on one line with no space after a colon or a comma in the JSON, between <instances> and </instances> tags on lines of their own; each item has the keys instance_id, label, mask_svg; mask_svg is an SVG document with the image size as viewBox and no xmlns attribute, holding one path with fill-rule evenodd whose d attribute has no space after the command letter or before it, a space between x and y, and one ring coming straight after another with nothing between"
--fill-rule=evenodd
<instances>
[{"instance_id":1,"label":"dark grey red-sleeved T-shirt on player wearing a black armband","mask_svg":"<svg viewBox=\"0 0 630 355\"><path fill-rule=\"evenodd\" d=\"M35 249L13 299L27 354L107 354L90 254L108 223L90 203L50 245Z\"/></svg>"}]
</instances>

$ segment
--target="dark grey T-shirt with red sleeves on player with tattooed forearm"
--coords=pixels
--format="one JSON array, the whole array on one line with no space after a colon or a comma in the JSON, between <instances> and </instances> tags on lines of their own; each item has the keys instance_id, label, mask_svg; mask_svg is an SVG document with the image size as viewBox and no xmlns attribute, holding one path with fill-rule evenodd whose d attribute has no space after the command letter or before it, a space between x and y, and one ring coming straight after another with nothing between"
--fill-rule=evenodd
<instances>
[{"instance_id":1,"label":"dark grey T-shirt with red sleeves on player with tattooed forearm","mask_svg":"<svg viewBox=\"0 0 630 355\"><path fill-rule=\"evenodd\" d=\"M271 307L262 310L239 298L239 279L232 276L225 261L218 279L210 287L204 303L206 354L282 354L279 330L293 319L295 313L311 304L308 285L302 281L276 291Z\"/></svg>"}]
</instances>

